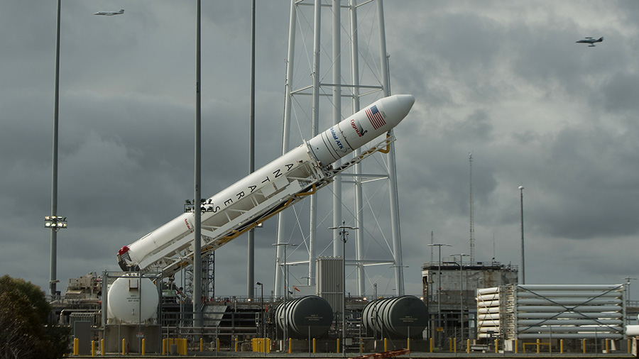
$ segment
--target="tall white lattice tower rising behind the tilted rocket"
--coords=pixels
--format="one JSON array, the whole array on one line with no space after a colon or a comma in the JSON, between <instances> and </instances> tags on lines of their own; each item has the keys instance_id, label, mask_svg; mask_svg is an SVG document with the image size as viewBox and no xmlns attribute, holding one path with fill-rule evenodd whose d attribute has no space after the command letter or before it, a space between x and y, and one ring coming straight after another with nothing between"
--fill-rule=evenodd
<instances>
[{"instance_id":1,"label":"tall white lattice tower rising behind the tilted rocket","mask_svg":"<svg viewBox=\"0 0 639 359\"><path fill-rule=\"evenodd\" d=\"M322 21L322 16L330 19ZM360 40L366 43L360 45ZM383 0L291 0L282 153L300 140L316 136L318 128L339 123L359 111L360 101L368 104L390 96L389 82ZM320 121L327 118L330 122L320 126ZM291 133L299 138L291 138ZM354 155L360 153L356 150ZM346 264L356 268L356 288L346 292L364 295L364 267L382 264L387 274L394 274L394 287L389 291L395 289L395 294L403 295L394 145L391 143L384 153L373 156L376 160L369 160L371 165L358 164L338 176L330 200L327 193L322 197L312 195L297 204L295 211L278 214L278 243L303 243L289 251L287 260L283 248L276 247L277 295L284 293L283 273L287 270L281 263L298 268L308 265L303 284L315 285L315 258L330 255L344 256ZM339 230L328 229L339 227L342 221L359 228L354 231L354 249L346 249L345 255ZM332 252L324 238L332 239ZM308 252L304 258L295 253L302 248ZM385 253L381 253L383 250Z\"/></svg>"}]
</instances>

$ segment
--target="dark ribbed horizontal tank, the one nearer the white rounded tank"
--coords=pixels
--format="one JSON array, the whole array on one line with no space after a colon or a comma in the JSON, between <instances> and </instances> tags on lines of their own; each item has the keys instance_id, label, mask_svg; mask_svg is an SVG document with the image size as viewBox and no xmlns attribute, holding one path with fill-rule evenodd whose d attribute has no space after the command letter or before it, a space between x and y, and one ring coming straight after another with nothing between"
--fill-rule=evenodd
<instances>
[{"instance_id":1,"label":"dark ribbed horizontal tank, the one nearer the white rounded tank","mask_svg":"<svg viewBox=\"0 0 639 359\"><path fill-rule=\"evenodd\" d=\"M275 322L281 331L288 324L288 335L295 338L320 338L331 327L333 309L322 297L310 295L281 302L275 309Z\"/></svg>"}]
</instances>

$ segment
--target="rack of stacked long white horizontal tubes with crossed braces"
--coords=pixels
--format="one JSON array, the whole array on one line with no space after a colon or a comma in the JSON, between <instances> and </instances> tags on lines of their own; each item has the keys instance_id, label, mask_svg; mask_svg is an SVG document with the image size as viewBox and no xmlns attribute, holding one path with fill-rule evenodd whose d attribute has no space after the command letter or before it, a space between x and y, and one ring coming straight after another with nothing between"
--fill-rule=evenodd
<instances>
[{"instance_id":1,"label":"rack of stacked long white horizontal tubes with crossed braces","mask_svg":"<svg viewBox=\"0 0 639 359\"><path fill-rule=\"evenodd\" d=\"M621 339L624 285L504 285L477 289L479 338Z\"/></svg>"}]
</instances>

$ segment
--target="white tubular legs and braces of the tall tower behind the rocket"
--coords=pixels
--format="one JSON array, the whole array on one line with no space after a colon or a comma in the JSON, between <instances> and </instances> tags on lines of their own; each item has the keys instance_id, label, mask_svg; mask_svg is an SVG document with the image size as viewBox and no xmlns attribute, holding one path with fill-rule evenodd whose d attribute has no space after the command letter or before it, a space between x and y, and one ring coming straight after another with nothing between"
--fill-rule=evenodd
<instances>
[{"instance_id":1,"label":"white tubular legs and braces of the tall tower behind the rocket","mask_svg":"<svg viewBox=\"0 0 639 359\"><path fill-rule=\"evenodd\" d=\"M358 22L357 11L361 6L365 6L365 20ZM312 10L309 13L308 10ZM342 10L347 15L342 16ZM328 46L322 43L322 34L326 33L327 29L322 29L322 13L330 12L332 16L330 23L332 23L331 34L331 50L328 50ZM348 26L342 24L342 18L347 18ZM362 23L366 23L367 26L371 26L372 23L376 23L376 28L371 26L370 28L363 27ZM366 33L361 34L361 30L365 28ZM308 35L305 31L312 35ZM378 55L372 55L371 44L367 44L363 48L359 46L359 38L366 38L370 40L371 34L374 30L378 31ZM297 37L300 35L300 38ZM347 45L342 44L342 38L346 38ZM308 45L312 41L312 49ZM297 53L299 48L296 45L301 45L302 53ZM374 45L373 45L374 48ZM329 57L328 54L331 54ZM300 70L296 67L295 57L302 57L302 62L309 65L308 68ZM344 60L349 59L348 65L342 65L346 62ZM390 96L390 84L388 75L388 55L386 54L386 38L383 21L383 1L360 1L356 0L292 0L290 5L290 24L289 24L289 38L288 38L288 57L286 62L286 79L285 79L285 106L284 106L284 123L283 123L283 145L282 153L290 150L291 142L291 126L293 121L297 121L295 124L298 126L300 136L303 138L311 138L317 135L320 121L320 107L324 108L328 106L327 103L332 106L332 123L339 123L342 119L346 118L350 114L354 114L360 109L360 100L363 97L375 99L375 96ZM306 60L306 61L304 61ZM344 60L344 61L342 61ZM359 67L360 60L364 60L365 68L362 70ZM320 62L328 63L328 70L320 67ZM300 66L303 67L304 65ZM350 74L342 74L344 72L350 72ZM296 72L300 72L300 76L296 76ZM368 77L364 75L364 72L371 72ZM310 77L308 76L310 75ZM331 77L330 82L325 81L326 77ZM299 78L299 79L297 79ZM312 79L312 82L304 83L308 78ZM346 80L348 78L348 80ZM367 82L368 84L362 84ZM343 105L342 99L347 99L349 104ZM368 102L368 100L366 100ZM371 101L372 102L372 101ZM303 119L300 119L303 118ZM300 121L307 121L310 118L310 123L301 123ZM392 133L390 133L392 136ZM398 217L398 199L397 199L397 184L395 177L395 148L393 143L389 145L388 151L383 151L386 155L380 159L383 162L379 173L364 173L363 168L359 163L354 166L354 171L349 174L342 174L335 177L334 184L332 186L333 200L332 200L332 223L323 223L323 219L320 219L320 212L318 211L319 199L315 196L310 197L308 201L308 227L302 228L300 225L300 215L295 213L295 221L300 226L302 237L305 241L305 246L308 250L307 260L298 261L296 263L307 263L308 270L307 285L315 285L315 258L317 238L328 232L317 233L317 229L328 231L328 227L338 227L342 224L342 221L346 220L346 223L354 224L359 229L356 233L355 244L355 266L357 276L357 295L364 295L366 292L365 285L365 272L364 266L370 263L365 260L365 245L364 238L366 236L372 236L371 231L367 231L367 226L364 223L364 213L366 206L370 206L370 199L366 197L363 186L367 182L373 182L377 180L388 180L388 206L389 224L391 228L392 244L388 244L388 249L392 253L392 268L395 273L395 289L398 295L403 295L403 265L401 255L401 243L400 243L400 226ZM354 153L354 158L361 155L361 150L357 150ZM339 167L337 162L334 166ZM348 178L346 178L348 177ZM347 193L344 193L344 184L348 183L352 187L349 188ZM352 209L348 209L344 203L344 198L349 197L354 203ZM323 207L322 207L323 208ZM348 211L348 214L344 214L344 209ZM296 209L297 211L297 209ZM278 243L288 242L290 238L290 228L287 227L288 216L285 212L278 214ZM351 219L347 219L351 216ZM379 218L371 216L371 222L375 226L380 226ZM346 218L345 218L346 217ZM288 223L290 226L290 223ZM372 227L372 226L371 226ZM381 230L380 230L381 231ZM334 257L343 255L342 245L340 245L339 230L334 230L332 254ZM322 255L326 255L325 253ZM276 263L283 261L283 249L277 249ZM346 260L348 263L349 260ZM388 263L388 260L386 261ZM379 263L374 263L379 264ZM279 270L275 270L275 293L283 294L282 275Z\"/></svg>"}]
</instances>

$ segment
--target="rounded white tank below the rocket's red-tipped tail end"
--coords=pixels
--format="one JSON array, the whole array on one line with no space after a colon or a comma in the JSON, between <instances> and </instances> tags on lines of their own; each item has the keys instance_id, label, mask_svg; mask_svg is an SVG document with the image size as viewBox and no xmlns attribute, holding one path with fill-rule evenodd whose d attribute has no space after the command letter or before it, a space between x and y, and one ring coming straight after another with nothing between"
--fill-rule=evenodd
<instances>
[{"instance_id":1,"label":"rounded white tank below the rocket's red-tipped tail end","mask_svg":"<svg viewBox=\"0 0 639 359\"><path fill-rule=\"evenodd\" d=\"M107 315L116 323L144 324L157 318L159 302L160 295L153 281L144 277L140 280L137 273L129 273L109 287Z\"/></svg>"}]
</instances>

